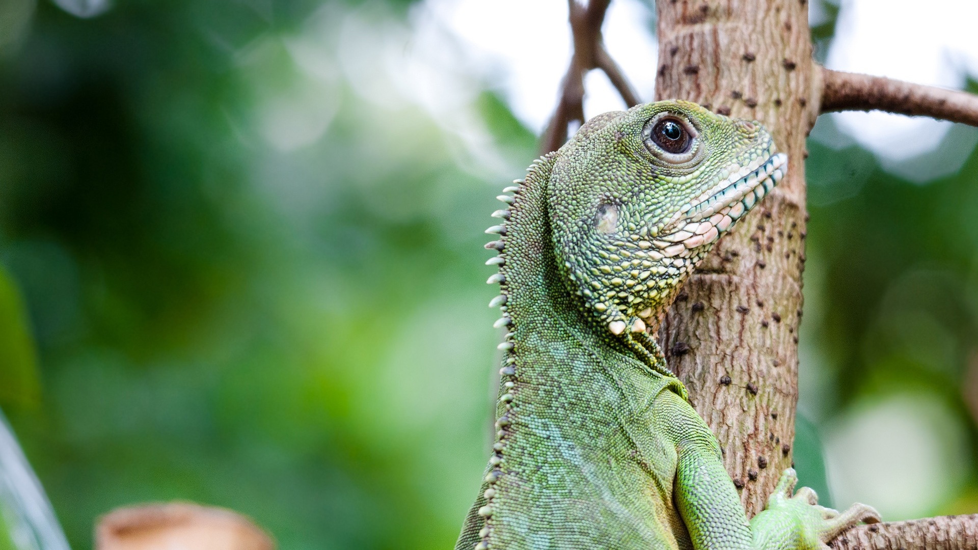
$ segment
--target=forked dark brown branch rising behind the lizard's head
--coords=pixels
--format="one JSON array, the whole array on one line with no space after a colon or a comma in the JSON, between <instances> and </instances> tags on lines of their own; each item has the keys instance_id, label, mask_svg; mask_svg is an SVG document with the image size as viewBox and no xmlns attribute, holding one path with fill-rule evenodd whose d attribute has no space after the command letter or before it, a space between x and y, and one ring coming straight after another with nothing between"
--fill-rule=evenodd
<instances>
[{"instance_id":1,"label":"forked dark brown branch rising behind the lizard's head","mask_svg":"<svg viewBox=\"0 0 978 550\"><path fill-rule=\"evenodd\" d=\"M626 105L633 107L639 104L635 89L604 49L601 23L604 23L604 14L610 3L611 0L591 0L584 7L576 0L567 0L574 54L560 84L560 100L544 133L542 153L556 151L563 145L567 140L568 123L573 120L584 123L584 75L589 70L603 70Z\"/></svg>"}]
</instances>

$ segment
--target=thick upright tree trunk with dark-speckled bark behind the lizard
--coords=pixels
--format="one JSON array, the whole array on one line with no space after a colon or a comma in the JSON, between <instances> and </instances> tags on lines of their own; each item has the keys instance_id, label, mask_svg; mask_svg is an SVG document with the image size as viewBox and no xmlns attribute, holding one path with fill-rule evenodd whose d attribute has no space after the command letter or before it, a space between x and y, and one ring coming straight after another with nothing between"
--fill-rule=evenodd
<instances>
[{"instance_id":1,"label":"thick upright tree trunk with dark-speckled bark behind the lizard","mask_svg":"<svg viewBox=\"0 0 978 550\"><path fill-rule=\"evenodd\" d=\"M791 465L805 236L805 137L819 113L804 1L661 0L656 100L757 119L787 177L714 249L659 330L720 439L749 516ZM819 96L815 96L818 98Z\"/></svg>"}]
</instances>

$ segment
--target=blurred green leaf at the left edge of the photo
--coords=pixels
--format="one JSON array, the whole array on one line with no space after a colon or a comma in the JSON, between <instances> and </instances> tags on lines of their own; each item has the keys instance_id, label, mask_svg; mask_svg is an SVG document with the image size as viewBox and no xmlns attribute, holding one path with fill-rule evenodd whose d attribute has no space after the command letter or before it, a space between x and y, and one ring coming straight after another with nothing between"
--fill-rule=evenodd
<instances>
[{"instance_id":1,"label":"blurred green leaf at the left edge of the photo","mask_svg":"<svg viewBox=\"0 0 978 550\"><path fill-rule=\"evenodd\" d=\"M21 294L0 265L0 404L38 402L37 352Z\"/></svg>"}]
</instances>

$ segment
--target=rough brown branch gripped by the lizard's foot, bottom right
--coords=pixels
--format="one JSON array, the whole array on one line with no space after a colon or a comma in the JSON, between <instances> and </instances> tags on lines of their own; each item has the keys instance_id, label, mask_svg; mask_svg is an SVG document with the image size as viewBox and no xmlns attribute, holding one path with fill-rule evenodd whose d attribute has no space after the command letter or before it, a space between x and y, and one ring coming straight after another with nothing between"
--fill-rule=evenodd
<instances>
[{"instance_id":1,"label":"rough brown branch gripped by the lizard's foot, bottom right","mask_svg":"<svg viewBox=\"0 0 978 550\"><path fill-rule=\"evenodd\" d=\"M834 550L975 550L978 514L853 527L829 546Z\"/></svg>"}]
</instances>

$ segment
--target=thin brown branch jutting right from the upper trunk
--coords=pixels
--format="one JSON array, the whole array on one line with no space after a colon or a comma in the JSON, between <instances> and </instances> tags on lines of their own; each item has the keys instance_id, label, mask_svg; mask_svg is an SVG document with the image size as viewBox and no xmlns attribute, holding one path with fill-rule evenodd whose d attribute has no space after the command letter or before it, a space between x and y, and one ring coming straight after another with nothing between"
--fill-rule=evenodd
<instances>
[{"instance_id":1,"label":"thin brown branch jutting right from the upper trunk","mask_svg":"<svg viewBox=\"0 0 978 550\"><path fill-rule=\"evenodd\" d=\"M822 113L886 111L978 126L978 96L883 76L822 69Z\"/></svg>"}]
</instances>

